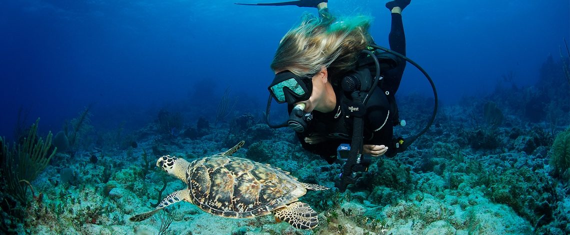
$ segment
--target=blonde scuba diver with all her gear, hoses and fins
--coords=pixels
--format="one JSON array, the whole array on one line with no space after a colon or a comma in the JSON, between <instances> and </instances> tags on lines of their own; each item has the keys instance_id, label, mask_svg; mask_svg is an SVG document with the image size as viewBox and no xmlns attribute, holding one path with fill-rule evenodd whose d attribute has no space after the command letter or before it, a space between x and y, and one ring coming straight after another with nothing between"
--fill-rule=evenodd
<instances>
[{"instance_id":1,"label":"blonde scuba diver with all her gear, hoses and fins","mask_svg":"<svg viewBox=\"0 0 570 235\"><path fill-rule=\"evenodd\" d=\"M271 62L275 78L268 87L266 115L270 127L294 129L302 147L329 164L347 158L337 182L341 192L356 182L356 172L367 171L370 156L394 156L419 136L406 144L403 138L393 137L393 127L405 125L398 117L394 95L406 61L413 63L405 56L401 15L410 1L394 0L385 5L392 13L391 50L374 44L368 33L370 18L335 18L328 12L327 0L237 3L319 9L319 18L305 15L280 41ZM413 64L430 80L435 94L429 76ZM271 124L271 98L288 104L290 119L286 123ZM435 99L437 102L437 95Z\"/></svg>"}]
</instances>

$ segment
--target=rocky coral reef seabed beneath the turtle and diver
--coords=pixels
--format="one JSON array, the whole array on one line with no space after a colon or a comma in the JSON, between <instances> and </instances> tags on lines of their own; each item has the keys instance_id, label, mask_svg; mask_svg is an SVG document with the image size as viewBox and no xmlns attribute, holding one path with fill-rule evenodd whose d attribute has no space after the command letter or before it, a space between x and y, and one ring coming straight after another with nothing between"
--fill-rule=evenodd
<instances>
[{"instance_id":1,"label":"rocky coral reef seabed beneath the turtle and diver","mask_svg":"<svg viewBox=\"0 0 570 235\"><path fill-rule=\"evenodd\" d=\"M559 84L563 74L554 71L560 68L556 66L548 58L541 81ZM518 87L511 84L514 76L514 72L504 75L510 86L498 87L486 97L442 104L425 136L393 158L372 157L368 172L359 173L359 181L344 193L334 188L343 161L327 164L304 151L290 129L263 124L254 115L260 111L240 114L229 100L229 90L218 114L197 117L195 125L182 123L182 113L163 110L158 123L128 135L120 135L120 128L115 134L99 134L96 142L84 134L84 128L93 128L89 115L80 115L71 121L67 133L55 138L62 142L58 146L64 146L67 137L70 149L54 155L35 180L28 180L33 187L21 184L27 206L12 210L18 202L6 193L9 188L3 175L1 195L7 199L2 202L2 216L8 219L3 220L2 232L569 234L570 108L557 99L567 94L568 87L559 86L556 91L543 84ZM398 102L406 104L399 107L400 115L414 121L395 128L397 135L417 133L428 119L433 100L412 94L398 97ZM73 129L78 133L71 144ZM187 187L157 171L158 157L193 161L225 152L241 140L246 144L234 156L271 164L299 181L331 188L307 192L302 198L319 213L315 229L298 230L272 216L213 216L188 203L170 206L142 222L128 220L154 208L167 193ZM28 190L32 188L34 192Z\"/></svg>"}]
</instances>

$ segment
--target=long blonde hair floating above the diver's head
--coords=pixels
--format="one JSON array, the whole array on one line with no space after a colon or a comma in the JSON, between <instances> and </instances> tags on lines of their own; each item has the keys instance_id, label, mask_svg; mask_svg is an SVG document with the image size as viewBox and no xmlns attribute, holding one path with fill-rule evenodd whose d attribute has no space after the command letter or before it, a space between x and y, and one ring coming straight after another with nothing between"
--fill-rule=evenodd
<instances>
[{"instance_id":1,"label":"long blonde hair floating above the diver's head","mask_svg":"<svg viewBox=\"0 0 570 235\"><path fill-rule=\"evenodd\" d=\"M299 26L289 30L275 52L271 69L289 70L298 76L313 76L327 67L329 79L355 67L360 51L372 38L371 17L336 19L321 10L320 18L304 15Z\"/></svg>"}]
</instances>

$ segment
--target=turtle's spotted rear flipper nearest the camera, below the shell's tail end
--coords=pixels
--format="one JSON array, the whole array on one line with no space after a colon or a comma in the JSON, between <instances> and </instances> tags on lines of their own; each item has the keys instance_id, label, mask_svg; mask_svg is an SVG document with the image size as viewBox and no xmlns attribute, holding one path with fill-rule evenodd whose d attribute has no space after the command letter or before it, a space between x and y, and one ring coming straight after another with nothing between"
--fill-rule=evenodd
<instances>
[{"instance_id":1,"label":"turtle's spotted rear flipper nearest the camera, below the shell's tail end","mask_svg":"<svg viewBox=\"0 0 570 235\"><path fill-rule=\"evenodd\" d=\"M274 213L279 220L288 222L298 229L312 229L319 224L319 218L315 210L308 204L300 201L277 209Z\"/></svg>"}]
</instances>

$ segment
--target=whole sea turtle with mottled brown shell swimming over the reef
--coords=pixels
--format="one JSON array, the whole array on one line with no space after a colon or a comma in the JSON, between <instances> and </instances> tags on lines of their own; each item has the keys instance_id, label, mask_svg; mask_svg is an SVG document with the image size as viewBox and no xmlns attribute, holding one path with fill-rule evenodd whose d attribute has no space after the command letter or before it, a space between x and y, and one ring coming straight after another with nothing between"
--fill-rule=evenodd
<instances>
[{"instance_id":1,"label":"whole sea turtle with mottled brown shell swimming over the reef","mask_svg":"<svg viewBox=\"0 0 570 235\"><path fill-rule=\"evenodd\" d=\"M187 201L203 211L230 218L251 218L274 213L279 220L299 229L319 224L317 213L298 201L307 189L327 187L297 181L289 172L249 159L231 157L242 147L241 141L226 152L189 163L175 156L162 156L156 165L188 186L166 196L156 209L137 214L133 222L143 221L176 202Z\"/></svg>"}]
</instances>

